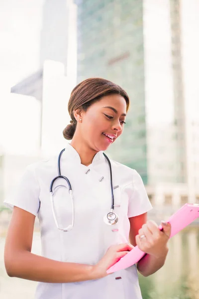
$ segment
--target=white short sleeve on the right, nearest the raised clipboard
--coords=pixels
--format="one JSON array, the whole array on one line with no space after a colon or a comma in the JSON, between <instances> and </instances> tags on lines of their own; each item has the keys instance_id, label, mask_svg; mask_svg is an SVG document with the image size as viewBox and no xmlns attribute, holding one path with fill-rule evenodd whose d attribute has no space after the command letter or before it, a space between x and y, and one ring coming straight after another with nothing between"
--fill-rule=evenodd
<instances>
[{"instance_id":1,"label":"white short sleeve on the right, nearest the raised clipboard","mask_svg":"<svg viewBox=\"0 0 199 299\"><path fill-rule=\"evenodd\" d=\"M152 209L144 183L139 173L133 172L133 193L128 203L128 218L144 214Z\"/></svg>"}]
</instances>

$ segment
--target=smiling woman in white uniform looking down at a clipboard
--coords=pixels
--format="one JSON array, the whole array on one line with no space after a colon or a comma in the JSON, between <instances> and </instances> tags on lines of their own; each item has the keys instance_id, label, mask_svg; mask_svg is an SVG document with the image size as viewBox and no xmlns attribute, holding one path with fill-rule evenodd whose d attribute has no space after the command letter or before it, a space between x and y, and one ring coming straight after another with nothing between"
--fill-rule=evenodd
<instances>
[{"instance_id":1,"label":"smiling woman in white uniform looking down at a clipboard","mask_svg":"<svg viewBox=\"0 0 199 299\"><path fill-rule=\"evenodd\" d=\"M52 186L53 215L49 188L58 175L58 155L29 165L15 197L6 201L13 214L5 268L11 277L38 281L36 299L141 299L137 269L148 276L164 265L171 226L163 222L160 231L156 223L146 222L151 204L140 175L110 160L112 207L110 168L103 151L122 134L128 107L126 92L100 78L81 82L71 93L72 121L63 135L72 141L60 157L60 172L72 186L74 219L64 178ZM107 220L110 208L118 221ZM37 214L41 257L31 253ZM134 265L107 275L106 270L136 244L147 254L137 269Z\"/></svg>"}]
</instances>

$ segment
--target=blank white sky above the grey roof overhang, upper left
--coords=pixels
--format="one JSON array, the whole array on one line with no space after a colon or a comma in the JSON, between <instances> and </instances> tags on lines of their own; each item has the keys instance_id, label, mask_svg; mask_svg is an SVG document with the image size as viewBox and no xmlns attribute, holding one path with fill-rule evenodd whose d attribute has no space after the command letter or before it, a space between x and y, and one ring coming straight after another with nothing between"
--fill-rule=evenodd
<instances>
[{"instance_id":1,"label":"blank white sky above the grey roof overhang, upper left","mask_svg":"<svg viewBox=\"0 0 199 299\"><path fill-rule=\"evenodd\" d=\"M0 88L38 70L44 0L0 0Z\"/></svg>"}]
</instances>

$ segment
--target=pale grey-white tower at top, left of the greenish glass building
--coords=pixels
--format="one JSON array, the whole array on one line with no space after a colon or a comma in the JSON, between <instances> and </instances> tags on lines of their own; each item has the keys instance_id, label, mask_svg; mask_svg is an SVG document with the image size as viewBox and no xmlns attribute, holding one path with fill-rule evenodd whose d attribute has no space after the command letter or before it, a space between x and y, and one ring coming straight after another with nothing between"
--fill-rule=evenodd
<instances>
[{"instance_id":1,"label":"pale grey-white tower at top, left of the greenish glass building","mask_svg":"<svg viewBox=\"0 0 199 299\"><path fill-rule=\"evenodd\" d=\"M41 68L45 60L58 61L64 64L65 75L72 72L76 76L76 19L77 7L73 0L45 0L40 36Z\"/></svg>"}]
</instances>

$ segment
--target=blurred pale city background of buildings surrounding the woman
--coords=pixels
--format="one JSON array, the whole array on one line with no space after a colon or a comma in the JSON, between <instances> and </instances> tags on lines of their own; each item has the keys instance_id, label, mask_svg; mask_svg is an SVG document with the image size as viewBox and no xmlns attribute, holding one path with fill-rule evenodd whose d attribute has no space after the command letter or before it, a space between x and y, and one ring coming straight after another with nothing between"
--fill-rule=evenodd
<instances>
[{"instance_id":1,"label":"blurred pale city background of buildings surrounding the woman","mask_svg":"<svg viewBox=\"0 0 199 299\"><path fill-rule=\"evenodd\" d=\"M108 154L142 176L148 218L199 203L199 0L0 0L0 41L0 298L33 299L35 282L5 273L3 200L27 164L64 148L80 81L103 77L130 97ZM32 251L41 254L37 221ZM199 299L199 219L139 280L143 299Z\"/></svg>"}]
</instances>

